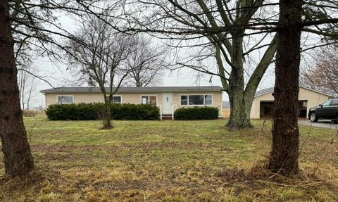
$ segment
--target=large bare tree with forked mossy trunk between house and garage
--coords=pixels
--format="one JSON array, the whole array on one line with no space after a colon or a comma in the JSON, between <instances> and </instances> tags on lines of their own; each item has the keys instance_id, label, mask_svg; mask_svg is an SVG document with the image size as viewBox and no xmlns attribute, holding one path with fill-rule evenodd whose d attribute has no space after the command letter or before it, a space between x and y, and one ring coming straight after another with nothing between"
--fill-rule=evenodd
<instances>
[{"instance_id":1,"label":"large bare tree with forked mossy trunk between house and garage","mask_svg":"<svg viewBox=\"0 0 338 202\"><path fill-rule=\"evenodd\" d=\"M265 30L274 18L261 18L265 1L127 1L126 19L130 30L158 33L158 38L177 43L173 46L196 50L196 54L181 56L178 67L189 67L220 77L224 90L230 98L230 119L227 127L238 129L251 127L250 111L254 94L265 70L275 56L275 38L261 34L261 39L250 39ZM130 9L129 9L130 10ZM273 10L270 10L273 11ZM270 20L271 19L271 20ZM259 62L253 64L253 72L245 82L244 63L251 54L265 48ZM213 57L216 65L208 63ZM204 62L206 61L206 62ZM206 64L207 63L207 64Z\"/></svg>"}]
</instances>

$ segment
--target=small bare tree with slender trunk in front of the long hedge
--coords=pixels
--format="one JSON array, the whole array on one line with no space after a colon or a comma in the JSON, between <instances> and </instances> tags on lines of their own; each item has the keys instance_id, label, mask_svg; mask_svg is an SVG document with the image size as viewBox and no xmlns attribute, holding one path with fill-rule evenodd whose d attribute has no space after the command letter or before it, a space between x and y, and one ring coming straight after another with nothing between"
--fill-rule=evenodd
<instances>
[{"instance_id":1,"label":"small bare tree with slender trunk in front of the long hedge","mask_svg":"<svg viewBox=\"0 0 338 202\"><path fill-rule=\"evenodd\" d=\"M68 70L89 85L99 86L104 96L103 128L110 129L113 94L132 71L126 61L134 46L133 36L113 32L104 20L92 15L82 18L81 23L76 34L81 43L68 42Z\"/></svg>"}]
</instances>

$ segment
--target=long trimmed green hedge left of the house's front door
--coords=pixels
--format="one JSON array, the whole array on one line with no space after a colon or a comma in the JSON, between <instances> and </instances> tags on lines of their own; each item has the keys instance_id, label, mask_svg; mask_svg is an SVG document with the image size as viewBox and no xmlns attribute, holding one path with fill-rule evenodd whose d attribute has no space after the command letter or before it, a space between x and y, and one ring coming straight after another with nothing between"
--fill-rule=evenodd
<instances>
[{"instance_id":1,"label":"long trimmed green hedge left of the house's front door","mask_svg":"<svg viewBox=\"0 0 338 202\"><path fill-rule=\"evenodd\" d=\"M54 104L45 113L49 120L98 120L104 103ZM115 120L158 120L156 106L130 103L111 103L111 118Z\"/></svg>"}]
</instances>

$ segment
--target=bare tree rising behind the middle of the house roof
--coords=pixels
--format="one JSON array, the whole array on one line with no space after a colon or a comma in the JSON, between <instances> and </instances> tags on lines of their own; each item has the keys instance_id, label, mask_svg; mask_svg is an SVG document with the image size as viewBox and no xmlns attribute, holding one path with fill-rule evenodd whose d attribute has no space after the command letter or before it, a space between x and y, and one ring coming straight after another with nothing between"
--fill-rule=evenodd
<instances>
[{"instance_id":1,"label":"bare tree rising behind the middle of the house roof","mask_svg":"<svg viewBox=\"0 0 338 202\"><path fill-rule=\"evenodd\" d=\"M165 49L151 46L151 38L137 34L132 53L127 59L127 67L132 70L127 77L127 84L135 87L156 86L162 83L165 72Z\"/></svg>"}]
</instances>

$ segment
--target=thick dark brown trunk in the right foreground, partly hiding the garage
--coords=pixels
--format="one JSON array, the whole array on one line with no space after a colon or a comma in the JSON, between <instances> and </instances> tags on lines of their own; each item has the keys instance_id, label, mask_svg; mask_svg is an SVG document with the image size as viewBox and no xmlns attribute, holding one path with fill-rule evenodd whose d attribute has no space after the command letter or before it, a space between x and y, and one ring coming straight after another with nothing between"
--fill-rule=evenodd
<instances>
[{"instance_id":1,"label":"thick dark brown trunk in the right foreground, partly hiding the garage","mask_svg":"<svg viewBox=\"0 0 338 202\"><path fill-rule=\"evenodd\" d=\"M299 172L298 93L301 39L301 0L280 0L273 146L269 169L284 174Z\"/></svg>"}]
</instances>

